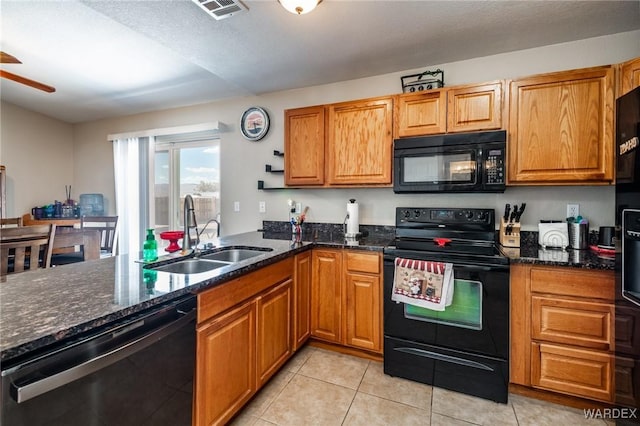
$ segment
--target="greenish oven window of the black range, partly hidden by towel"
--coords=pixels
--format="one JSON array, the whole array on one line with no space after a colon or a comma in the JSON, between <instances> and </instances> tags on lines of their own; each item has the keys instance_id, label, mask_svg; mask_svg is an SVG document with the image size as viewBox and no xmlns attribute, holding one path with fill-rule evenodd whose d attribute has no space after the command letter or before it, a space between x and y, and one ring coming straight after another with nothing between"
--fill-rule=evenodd
<instances>
[{"instance_id":1,"label":"greenish oven window of the black range, partly hidden by towel","mask_svg":"<svg viewBox=\"0 0 640 426\"><path fill-rule=\"evenodd\" d=\"M434 311L405 303L404 316L412 320L482 330L482 283L455 280L453 300L444 311Z\"/></svg>"}]
</instances>

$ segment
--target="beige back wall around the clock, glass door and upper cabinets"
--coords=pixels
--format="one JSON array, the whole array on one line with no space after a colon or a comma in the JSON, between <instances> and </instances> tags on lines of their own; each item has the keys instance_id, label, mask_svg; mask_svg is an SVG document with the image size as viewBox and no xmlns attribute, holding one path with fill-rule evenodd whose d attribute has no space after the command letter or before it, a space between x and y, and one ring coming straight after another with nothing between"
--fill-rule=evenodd
<instances>
[{"instance_id":1,"label":"beige back wall around the clock, glass door and upper cabinets","mask_svg":"<svg viewBox=\"0 0 640 426\"><path fill-rule=\"evenodd\" d=\"M462 196L396 195L390 188L258 191L257 181L265 180L267 186L282 186L282 175L268 175L264 172L264 165L279 167L282 164L282 159L274 157L272 152L284 148L283 111L287 108L399 93L402 75L425 69L443 69L445 83L450 86L613 64L640 56L638 39L640 31L633 31L450 64L426 64L418 70L372 78L184 108L162 110L159 107L154 112L77 124L73 126L74 193L103 193L108 209L115 211L113 155L111 144L107 141L108 134L218 120L227 126L221 135L221 213L224 234L255 230L264 219L286 220L288 198L309 205L309 220L318 222L342 222L347 200L356 198L360 203L362 224L393 224L395 206L477 206L502 210L507 202L520 204L524 201L528 203L523 217L524 229L537 229L537 223L542 218L563 219L568 202L580 204L581 212L591 220L592 227L610 225L614 222L613 187L508 188L504 194ZM242 112L254 105L265 108L271 118L269 134L260 142L248 142L238 131ZM3 114L3 127L4 123ZM7 143L14 145L13 140ZM52 192L56 186L44 180L50 188L48 192ZM28 186L21 185L20 190L28 190ZM64 184L61 190L64 190ZM239 213L233 212L234 201L240 202ZM267 203L267 212L264 214L258 213L259 201ZM32 204L23 204L21 209Z\"/></svg>"}]
</instances>

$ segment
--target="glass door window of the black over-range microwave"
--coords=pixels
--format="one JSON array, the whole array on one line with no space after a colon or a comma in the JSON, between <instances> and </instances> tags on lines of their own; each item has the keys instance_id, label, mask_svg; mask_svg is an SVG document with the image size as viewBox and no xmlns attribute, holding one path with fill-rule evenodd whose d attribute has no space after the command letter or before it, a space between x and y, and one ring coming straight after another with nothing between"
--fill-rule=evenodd
<instances>
[{"instance_id":1,"label":"glass door window of the black over-range microwave","mask_svg":"<svg viewBox=\"0 0 640 426\"><path fill-rule=\"evenodd\" d=\"M473 151L404 157L405 183L475 184L476 158Z\"/></svg>"}]
</instances>

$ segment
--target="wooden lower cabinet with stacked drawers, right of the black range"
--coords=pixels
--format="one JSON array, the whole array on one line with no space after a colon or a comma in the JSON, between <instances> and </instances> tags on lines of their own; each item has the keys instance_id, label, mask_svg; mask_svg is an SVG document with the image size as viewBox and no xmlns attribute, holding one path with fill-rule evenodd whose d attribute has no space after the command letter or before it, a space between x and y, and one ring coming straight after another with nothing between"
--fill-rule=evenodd
<instances>
[{"instance_id":1,"label":"wooden lower cabinet with stacked drawers, right of the black range","mask_svg":"<svg viewBox=\"0 0 640 426\"><path fill-rule=\"evenodd\" d=\"M613 271L511 265L512 383L614 400Z\"/></svg>"}]
</instances>

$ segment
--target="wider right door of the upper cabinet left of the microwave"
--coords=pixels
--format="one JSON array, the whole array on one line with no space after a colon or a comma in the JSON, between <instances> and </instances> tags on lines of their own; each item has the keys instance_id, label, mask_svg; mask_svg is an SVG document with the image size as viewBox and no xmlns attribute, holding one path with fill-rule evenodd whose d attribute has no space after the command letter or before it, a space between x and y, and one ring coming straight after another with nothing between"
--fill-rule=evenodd
<instances>
[{"instance_id":1,"label":"wider right door of the upper cabinet left of the microwave","mask_svg":"<svg viewBox=\"0 0 640 426\"><path fill-rule=\"evenodd\" d=\"M328 114L328 183L391 184L392 98L333 104Z\"/></svg>"}]
</instances>

